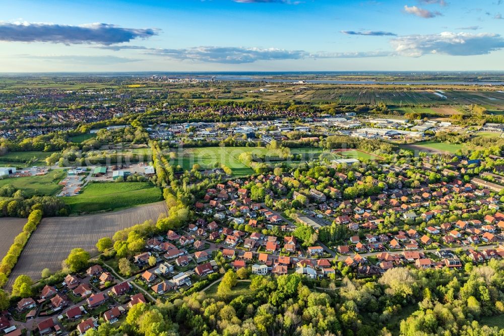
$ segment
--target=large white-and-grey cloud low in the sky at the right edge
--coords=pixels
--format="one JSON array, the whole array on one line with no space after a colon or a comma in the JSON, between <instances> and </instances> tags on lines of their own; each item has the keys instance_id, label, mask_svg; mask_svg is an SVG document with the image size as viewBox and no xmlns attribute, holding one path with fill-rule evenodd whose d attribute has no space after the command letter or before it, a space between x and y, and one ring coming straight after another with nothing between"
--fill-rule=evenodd
<instances>
[{"instance_id":1,"label":"large white-and-grey cloud low in the sky at the right edge","mask_svg":"<svg viewBox=\"0 0 504 336\"><path fill-rule=\"evenodd\" d=\"M392 39L395 51L404 56L420 57L439 53L456 56L482 55L504 48L504 39L491 33L451 33L400 36Z\"/></svg>"}]
</instances>

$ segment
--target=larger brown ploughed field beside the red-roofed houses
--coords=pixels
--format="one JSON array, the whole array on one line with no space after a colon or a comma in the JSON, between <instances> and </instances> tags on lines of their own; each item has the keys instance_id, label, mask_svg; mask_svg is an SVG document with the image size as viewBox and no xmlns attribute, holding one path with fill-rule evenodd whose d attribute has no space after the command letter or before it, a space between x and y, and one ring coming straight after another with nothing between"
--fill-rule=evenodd
<instances>
[{"instance_id":1,"label":"larger brown ploughed field beside the red-roofed houses","mask_svg":"<svg viewBox=\"0 0 504 336\"><path fill-rule=\"evenodd\" d=\"M40 279L42 269L57 271L73 248L83 248L95 254L95 244L102 237L146 220L156 221L166 214L165 202L151 203L111 213L43 218L32 234L14 267L7 288L11 288L18 275Z\"/></svg>"}]
</instances>

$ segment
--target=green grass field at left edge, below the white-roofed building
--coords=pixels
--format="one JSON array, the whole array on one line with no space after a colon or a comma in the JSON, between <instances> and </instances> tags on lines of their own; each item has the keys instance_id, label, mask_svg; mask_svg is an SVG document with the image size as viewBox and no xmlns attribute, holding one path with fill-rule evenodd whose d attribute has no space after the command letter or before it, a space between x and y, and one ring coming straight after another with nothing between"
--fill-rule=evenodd
<instances>
[{"instance_id":1,"label":"green grass field at left edge, below the white-roofed building","mask_svg":"<svg viewBox=\"0 0 504 336\"><path fill-rule=\"evenodd\" d=\"M14 188L21 189L26 197L33 195L55 195L62 187L58 185L65 177L62 170L49 171L46 175L22 178L9 178L0 180L0 187L12 184Z\"/></svg>"}]
</instances>

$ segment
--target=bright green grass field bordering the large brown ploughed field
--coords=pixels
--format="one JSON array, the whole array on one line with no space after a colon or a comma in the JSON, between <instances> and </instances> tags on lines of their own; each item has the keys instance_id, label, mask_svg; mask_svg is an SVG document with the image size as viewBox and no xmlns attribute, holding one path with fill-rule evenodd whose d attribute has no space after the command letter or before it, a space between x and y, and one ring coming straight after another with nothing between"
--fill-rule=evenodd
<instances>
[{"instance_id":1,"label":"bright green grass field bordering the large brown ploughed field","mask_svg":"<svg viewBox=\"0 0 504 336\"><path fill-rule=\"evenodd\" d=\"M161 189L149 182L88 184L81 194L64 197L74 213L92 213L153 203L163 199Z\"/></svg>"}]
</instances>

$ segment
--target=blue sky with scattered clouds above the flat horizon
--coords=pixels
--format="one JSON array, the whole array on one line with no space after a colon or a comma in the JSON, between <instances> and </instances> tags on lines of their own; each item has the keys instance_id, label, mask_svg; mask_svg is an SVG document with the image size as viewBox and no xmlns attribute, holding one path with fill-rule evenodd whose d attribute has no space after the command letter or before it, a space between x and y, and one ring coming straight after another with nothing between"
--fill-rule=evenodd
<instances>
[{"instance_id":1,"label":"blue sky with scattered clouds above the flat horizon","mask_svg":"<svg viewBox=\"0 0 504 336\"><path fill-rule=\"evenodd\" d=\"M504 0L0 0L0 72L504 71Z\"/></svg>"}]
</instances>

